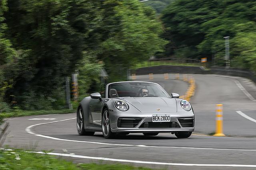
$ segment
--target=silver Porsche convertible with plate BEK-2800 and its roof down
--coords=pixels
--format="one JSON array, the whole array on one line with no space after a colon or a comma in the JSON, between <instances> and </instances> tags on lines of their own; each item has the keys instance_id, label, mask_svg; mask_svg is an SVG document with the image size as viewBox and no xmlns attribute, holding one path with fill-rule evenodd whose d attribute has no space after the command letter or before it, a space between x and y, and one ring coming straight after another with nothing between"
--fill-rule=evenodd
<instances>
[{"instance_id":1,"label":"silver Porsche convertible with plate BEK-2800 and its roof down","mask_svg":"<svg viewBox=\"0 0 256 170\"><path fill-rule=\"evenodd\" d=\"M129 133L156 136L172 133L188 138L194 131L195 115L190 103L169 95L153 82L114 82L105 92L90 94L77 109L79 135L103 133L105 138Z\"/></svg>"}]
</instances>

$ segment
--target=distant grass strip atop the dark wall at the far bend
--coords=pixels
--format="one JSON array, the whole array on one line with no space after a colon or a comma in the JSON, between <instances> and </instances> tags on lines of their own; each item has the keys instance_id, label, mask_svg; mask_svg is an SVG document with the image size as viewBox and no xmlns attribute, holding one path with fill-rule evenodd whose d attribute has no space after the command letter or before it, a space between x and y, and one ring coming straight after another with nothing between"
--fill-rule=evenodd
<instances>
[{"instance_id":1,"label":"distant grass strip atop the dark wall at the far bend","mask_svg":"<svg viewBox=\"0 0 256 170\"><path fill-rule=\"evenodd\" d=\"M202 66L201 63L179 63L173 61L145 61L143 63L138 63L134 66L134 70L138 68L148 67L148 66L161 66L161 65L172 65L172 66Z\"/></svg>"}]
</instances>

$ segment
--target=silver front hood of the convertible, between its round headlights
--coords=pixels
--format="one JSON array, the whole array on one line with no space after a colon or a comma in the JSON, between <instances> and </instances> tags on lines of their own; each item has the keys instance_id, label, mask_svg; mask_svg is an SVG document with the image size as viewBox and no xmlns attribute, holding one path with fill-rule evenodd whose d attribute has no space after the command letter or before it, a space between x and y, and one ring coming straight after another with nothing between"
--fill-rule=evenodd
<instances>
[{"instance_id":1,"label":"silver front hood of the convertible, between its round headlights","mask_svg":"<svg viewBox=\"0 0 256 170\"><path fill-rule=\"evenodd\" d=\"M122 98L122 100L136 107L141 112L177 112L177 103L175 98L125 97Z\"/></svg>"}]
</instances>

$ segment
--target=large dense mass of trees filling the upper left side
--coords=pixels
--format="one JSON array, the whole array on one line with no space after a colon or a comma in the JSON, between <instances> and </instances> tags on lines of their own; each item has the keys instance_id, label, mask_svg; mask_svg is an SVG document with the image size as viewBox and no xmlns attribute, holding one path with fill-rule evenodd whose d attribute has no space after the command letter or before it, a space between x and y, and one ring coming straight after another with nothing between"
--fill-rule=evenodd
<instances>
[{"instance_id":1,"label":"large dense mass of trees filling the upper left side","mask_svg":"<svg viewBox=\"0 0 256 170\"><path fill-rule=\"evenodd\" d=\"M0 23L1 107L62 109L67 76L79 72L84 96L100 87L103 66L109 81L123 80L166 44L138 0L1 0Z\"/></svg>"}]
</instances>

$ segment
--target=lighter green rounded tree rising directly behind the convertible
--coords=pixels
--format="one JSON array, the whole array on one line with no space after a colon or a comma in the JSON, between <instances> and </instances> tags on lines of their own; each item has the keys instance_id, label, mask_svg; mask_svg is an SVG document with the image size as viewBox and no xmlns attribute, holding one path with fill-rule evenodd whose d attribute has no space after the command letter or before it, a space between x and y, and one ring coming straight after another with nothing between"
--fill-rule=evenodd
<instances>
[{"instance_id":1,"label":"lighter green rounded tree rising directly behind the convertible","mask_svg":"<svg viewBox=\"0 0 256 170\"><path fill-rule=\"evenodd\" d=\"M113 2L104 2L108 8L104 8L102 14L112 17L104 16L109 31L102 42L102 53L98 55L105 62L111 81L126 78L127 68L148 60L166 44L159 37L163 29L152 8L138 0Z\"/></svg>"}]
</instances>

